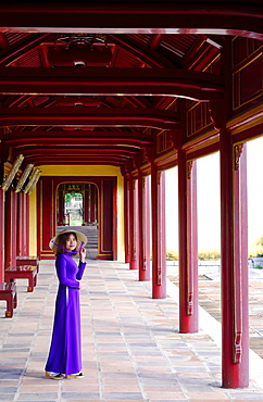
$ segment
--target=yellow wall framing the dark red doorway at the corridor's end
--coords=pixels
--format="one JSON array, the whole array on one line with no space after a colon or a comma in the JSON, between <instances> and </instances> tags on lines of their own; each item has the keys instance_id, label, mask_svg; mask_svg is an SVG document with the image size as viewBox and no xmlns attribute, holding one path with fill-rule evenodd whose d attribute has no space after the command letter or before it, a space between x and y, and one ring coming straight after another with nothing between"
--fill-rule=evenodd
<instances>
[{"instance_id":1,"label":"yellow wall framing the dark red doorway at the corridor's end","mask_svg":"<svg viewBox=\"0 0 263 402\"><path fill-rule=\"evenodd\" d=\"M117 177L117 260L125 261L124 252L124 181L118 167L105 165L45 165L38 166L41 176L116 176ZM30 255L36 255L36 191L30 194Z\"/></svg>"}]
</instances>

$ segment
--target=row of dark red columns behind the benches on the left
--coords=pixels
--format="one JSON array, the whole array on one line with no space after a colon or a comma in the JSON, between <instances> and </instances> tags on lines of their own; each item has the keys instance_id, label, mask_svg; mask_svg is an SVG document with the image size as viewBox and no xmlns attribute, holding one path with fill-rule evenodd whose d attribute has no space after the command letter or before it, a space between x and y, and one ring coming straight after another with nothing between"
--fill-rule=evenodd
<instances>
[{"instance_id":1,"label":"row of dark red columns behind the benches on the left","mask_svg":"<svg viewBox=\"0 0 263 402\"><path fill-rule=\"evenodd\" d=\"M29 196L12 188L0 189L0 280L4 269L16 264L16 256L29 254Z\"/></svg>"}]
</instances>

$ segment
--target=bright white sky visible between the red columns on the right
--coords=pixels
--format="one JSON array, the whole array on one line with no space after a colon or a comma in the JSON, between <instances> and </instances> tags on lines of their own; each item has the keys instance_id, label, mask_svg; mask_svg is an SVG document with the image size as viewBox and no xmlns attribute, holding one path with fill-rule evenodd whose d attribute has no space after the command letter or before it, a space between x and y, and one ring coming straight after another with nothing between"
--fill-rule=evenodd
<instances>
[{"instance_id":1,"label":"bright white sky visible between the red columns on the right","mask_svg":"<svg viewBox=\"0 0 263 402\"><path fill-rule=\"evenodd\" d=\"M248 150L248 236L249 254L262 252L256 246L263 237L263 137L249 141ZM197 161L198 175L198 248L199 251L220 251L220 154ZM165 172L166 247L178 252L177 167Z\"/></svg>"}]
</instances>

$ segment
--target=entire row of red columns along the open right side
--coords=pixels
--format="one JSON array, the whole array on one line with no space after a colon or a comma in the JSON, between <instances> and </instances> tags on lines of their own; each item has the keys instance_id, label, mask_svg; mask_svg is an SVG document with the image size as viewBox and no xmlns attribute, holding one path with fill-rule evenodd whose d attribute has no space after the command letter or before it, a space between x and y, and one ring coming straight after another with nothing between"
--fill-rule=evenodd
<instances>
[{"instance_id":1,"label":"entire row of red columns along the open right side","mask_svg":"<svg viewBox=\"0 0 263 402\"><path fill-rule=\"evenodd\" d=\"M150 279L152 298L166 297L164 173L151 164L149 177L138 169L125 176L125 251L139 280ZM198 331L197 166L178 150L179 331ZM150 219L151 211L151 219ZM151 221L151 229L150 229ZM248 212L246 145L234 146L221 129L222 230L222 377L223 387L249 385Z\"/></svg>"}]
</instances>

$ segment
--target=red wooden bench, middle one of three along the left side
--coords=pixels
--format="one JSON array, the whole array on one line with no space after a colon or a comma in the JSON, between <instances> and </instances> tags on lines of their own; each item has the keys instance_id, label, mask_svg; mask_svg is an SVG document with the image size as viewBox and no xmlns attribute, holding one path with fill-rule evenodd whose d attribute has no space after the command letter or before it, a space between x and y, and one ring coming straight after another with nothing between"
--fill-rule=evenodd
<instances>
[{"instance_id":1,"label":"red wooden bench, middle one of three along the left side","mask_svg":"<svg viewBox=\"0 0 263 402\"><path fill-rule=\"evenodd\" d=\"M14 279L28 279L27 291L33 292L37 285L37 266L34 265L16 265L10 266L4 271L4 281L14 281Z\"/></svg>"}]
</instances>

